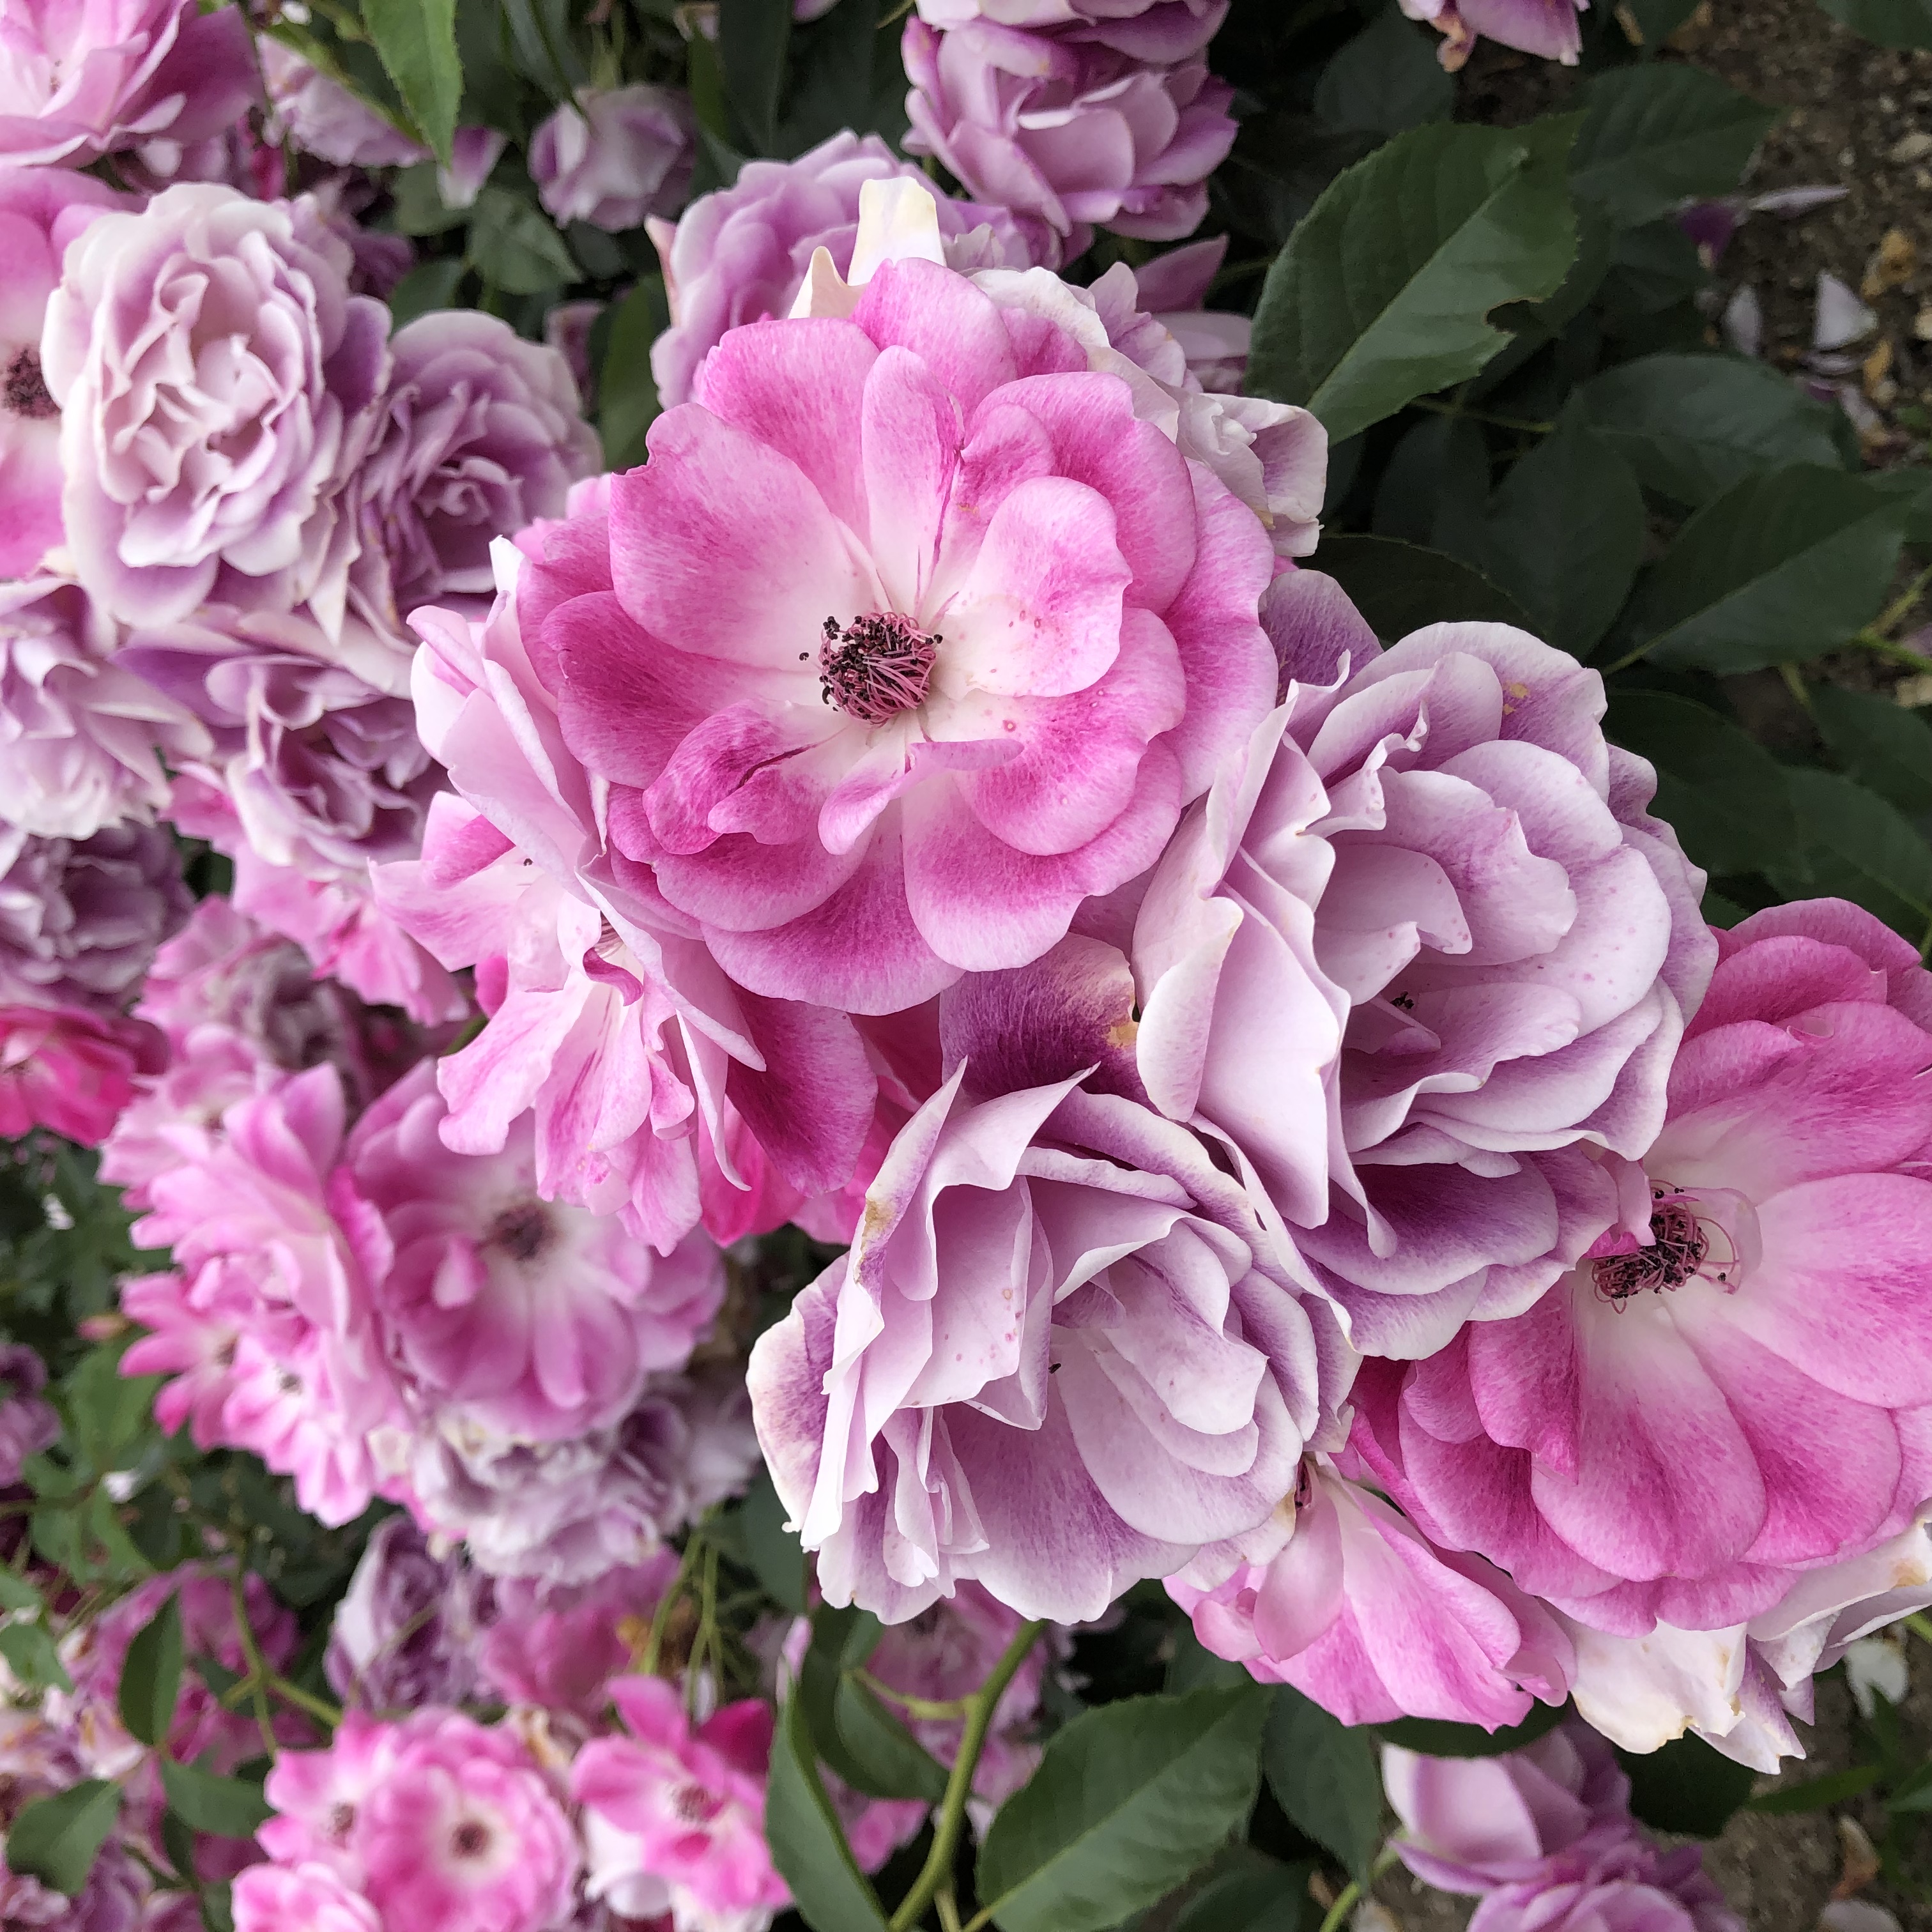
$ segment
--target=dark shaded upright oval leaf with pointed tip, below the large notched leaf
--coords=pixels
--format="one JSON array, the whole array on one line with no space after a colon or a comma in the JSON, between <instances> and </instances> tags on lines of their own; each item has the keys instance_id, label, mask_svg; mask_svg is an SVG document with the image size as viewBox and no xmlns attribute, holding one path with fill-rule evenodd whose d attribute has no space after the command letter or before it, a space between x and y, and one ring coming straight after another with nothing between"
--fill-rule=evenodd
<instances>
[{"instance_id":1,"label":"dark shaded upright oval leaf with pointed tip, below the large notched leaf","mask_svg":"<svg viewBox=\"0 0 1932 1932\"><path fill-rule=\"evenodd\" d=\"M1644 554L1644 493L1613 448L1565 412L1490 498L1482 560L1534 628L1588 657Z\"/></svg>"}]
</instances>

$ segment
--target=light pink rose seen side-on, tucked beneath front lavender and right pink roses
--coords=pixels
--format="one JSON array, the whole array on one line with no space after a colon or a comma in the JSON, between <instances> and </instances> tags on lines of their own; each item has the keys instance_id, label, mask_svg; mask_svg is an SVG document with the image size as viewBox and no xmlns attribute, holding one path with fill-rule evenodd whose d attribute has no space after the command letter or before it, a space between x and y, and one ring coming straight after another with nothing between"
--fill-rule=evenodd
<instances>
[{"instance_id":1,"label":"light pink rose seen side-on, tucked beneath front lavender and right pink roses","mask_svg":"<svg viewBox=\"0 0 1932 1932\"><path fill-rule=\"evenodd\" d=\"M1202 1551L1167 1594L1219 1658L1294 1685L1343 1723L1435 1718L1497 1729L1561 1704L1557 1619L1480 1557L1435 1549L1325 1459L1250 1536Z\"/></svg>"}]
</instances>

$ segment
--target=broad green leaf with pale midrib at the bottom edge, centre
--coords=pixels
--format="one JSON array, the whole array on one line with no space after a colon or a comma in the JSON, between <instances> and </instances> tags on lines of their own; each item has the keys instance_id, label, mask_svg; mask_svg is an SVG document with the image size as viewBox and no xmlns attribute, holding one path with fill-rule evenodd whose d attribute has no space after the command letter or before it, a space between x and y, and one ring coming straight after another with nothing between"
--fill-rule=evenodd
<instances>
[{"instance_id":1,"label":"broad green leaf with pale midrib at the bottom edge, centre","mask_svg":"<svg viewBox=\"0 0 1932 1932\"><path fill-rule=\"evenodd\" d=\"M1099 1932L1198 1870L1254 1804L1254 1685L1082 1712L999 1808L976 1889L1001 1932Z\"/></svg>"}]
</instances>

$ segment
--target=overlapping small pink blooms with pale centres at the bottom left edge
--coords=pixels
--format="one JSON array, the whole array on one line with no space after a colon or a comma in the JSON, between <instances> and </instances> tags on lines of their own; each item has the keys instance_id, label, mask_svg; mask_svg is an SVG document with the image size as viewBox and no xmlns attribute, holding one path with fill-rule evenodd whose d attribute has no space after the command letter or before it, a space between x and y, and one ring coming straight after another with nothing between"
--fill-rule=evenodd
<instances>
[{"instance_id":1,"label":"overlapping small pink blooms with pale centres at the bottom left edge","mask_svg":"<svg viewBox=\"0 0 1932 1932\"><path fill-rule=\"evenodd\" d=\"M526 1747L502 1725L425 1708L348 1712L328 1750L282 1752L261 1843L359 1891L384 1926L547 1932L570 1909L578 1845Z\"/></svg>"}]
</instances>

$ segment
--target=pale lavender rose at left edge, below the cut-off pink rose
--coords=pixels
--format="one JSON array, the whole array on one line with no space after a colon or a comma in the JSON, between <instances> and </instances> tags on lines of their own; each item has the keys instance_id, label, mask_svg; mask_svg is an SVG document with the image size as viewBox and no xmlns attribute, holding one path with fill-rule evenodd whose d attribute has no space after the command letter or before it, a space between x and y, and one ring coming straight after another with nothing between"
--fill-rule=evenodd
<instances>
[{"instance_id":1,"label":"pale lavender rose at left edge, below the cut-off pink rose","mask_svg":"<svg viewBox=\"0 0 1932 1932\"><path fill-rule=\"evenodd\" d=\"M114 641L75 583L0 583L0 823L91 838L118 819L153 819L172 796L162 755L182 765L209 752L185 705L114 663Z\"/></svg>"}]
</instances>

